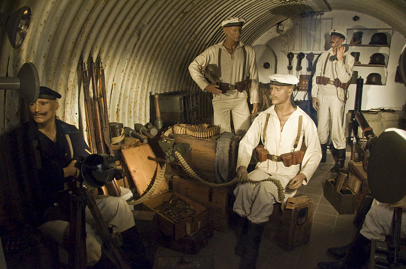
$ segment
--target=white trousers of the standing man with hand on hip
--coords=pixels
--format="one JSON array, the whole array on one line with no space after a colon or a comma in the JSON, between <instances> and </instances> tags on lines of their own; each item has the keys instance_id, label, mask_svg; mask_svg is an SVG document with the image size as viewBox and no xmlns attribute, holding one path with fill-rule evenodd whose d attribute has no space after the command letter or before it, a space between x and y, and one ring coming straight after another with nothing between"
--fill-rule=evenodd
<instances>
[{"instance_id":1,"label":"white trousers of the standing man with hand on hip","mask_svg":"<svg viewBox=\"0 0 406 269\"><path fill-rule=\"evenodd\" d=\"M220 125L220 133L231 132L230 111L236 135L244 135L251 125L247 98L223 98L215 95L212 100L214 124Z\"/></svg>"}]
</instances>

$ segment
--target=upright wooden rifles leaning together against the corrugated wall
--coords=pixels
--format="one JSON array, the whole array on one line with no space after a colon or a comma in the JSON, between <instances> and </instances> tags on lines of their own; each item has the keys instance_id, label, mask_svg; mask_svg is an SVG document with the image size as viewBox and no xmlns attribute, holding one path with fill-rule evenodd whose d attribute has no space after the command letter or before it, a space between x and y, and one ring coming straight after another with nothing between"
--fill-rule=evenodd
<instances>
[{"instance_id":1,"label":"upright wooden rifles leaning together against the corrugated wall","mask_svg":"<svg viewBox=\"0 0 406 269\"><path fill-rule=\"evenodd\" d=\"M107 107L105 72L98 58L98 85L96 80L96 68L93 62L92 51L90 51L89 70L80 57L82 69L82 84L85 100L86 131L90 150L93 153L104 153L114 156L110 140L109 112ZM90 95L90 81L92 83L93 97ZM102 187L104 193L110 196L120 196L120 188L115 180L106 183Z\"/></svg>"}]
</instances>

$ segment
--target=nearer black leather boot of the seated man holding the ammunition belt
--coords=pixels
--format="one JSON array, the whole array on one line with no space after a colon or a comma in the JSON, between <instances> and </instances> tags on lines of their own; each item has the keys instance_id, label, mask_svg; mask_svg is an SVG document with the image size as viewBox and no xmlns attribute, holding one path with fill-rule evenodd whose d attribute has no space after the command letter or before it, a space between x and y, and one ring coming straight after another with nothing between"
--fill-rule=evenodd
<instances>
[{"instance_id":1,"label":"nearer black leather boot of the seated man holding the ammunition belt","mask_svg":"<svg viewBox=\"0 0 406 269\"><path fill-rule=\"evenodd\" d=\"M241 258L240 269L255 269L264 226L265 222L248 221L247 245L244 256Z\"/></svg>"}]
</instances>

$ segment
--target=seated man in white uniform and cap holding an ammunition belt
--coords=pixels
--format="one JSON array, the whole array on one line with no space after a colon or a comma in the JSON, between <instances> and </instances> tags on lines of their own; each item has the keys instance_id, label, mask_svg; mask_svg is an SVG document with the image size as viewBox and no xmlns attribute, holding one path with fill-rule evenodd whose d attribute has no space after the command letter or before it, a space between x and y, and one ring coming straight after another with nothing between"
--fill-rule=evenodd
<instances>
[{"instance_id":1,"label":"seated man in white uniform and cap holding an ammunition belt","mask_svg":"<svg viewBox=\"0 0 406 269\"><path fill-rule=\"evenodd\" d=\"M320 162L321 149L314 122L306 112L293 106L292 92L299 80L290 74L273 74L269 78L273 105L259 113L241 140L236 167L238 176L245 179L260 181L270 177L279 181L286 200L310 180ZM247 166L260 140L268 151L268 159L259 162L248 174ZM292 149L298 152L303 142L307 149L301 164L286 167L281 155ZM242 268L255 268L264 224L273 211L273 204L280 202L278 189L269 181L242 183L235 187L234 195L233 210L245 221L235 253L243 257Z\"/></svg>"}]
</instances>

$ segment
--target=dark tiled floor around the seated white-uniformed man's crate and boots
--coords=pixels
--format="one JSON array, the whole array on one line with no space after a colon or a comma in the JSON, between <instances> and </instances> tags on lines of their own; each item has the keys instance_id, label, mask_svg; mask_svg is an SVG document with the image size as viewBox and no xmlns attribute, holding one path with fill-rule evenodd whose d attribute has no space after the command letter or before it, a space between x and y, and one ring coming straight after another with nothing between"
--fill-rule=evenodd
<instances>
[{"instance_id":1,"label":"dark tiled floor around the seated white-uniformed man's crate and boots","mask_svg":"<svg viewBox=\"0 0 406 269\"><path fill-rule=\"evenodd\" d=\"M347 152L347 162L348 159L349 152ZM302 194L311 197L315 203L310 242L298 246L292 251L285 251L262 237L257 268L317 268L317 262L333 260L326 255L327 248L346 245L353 240L357 233L357 228L353 225L354 215L339 215L323 196L325 180L335 177L335 173L329 175L333 163L333 158L328 152L327 162L319 165L307 186L299 188ZM239 268L240 256L234 254L234 246L239 237L240 229L239 225L231 223L226 232L215 230L208 245L194 256L211 257L216 269ZM160 256L188 257L193 255L158 247L155 260ZM156 266L157 264L154 264L154 267Z\"/></svg>"}]
</instances>

